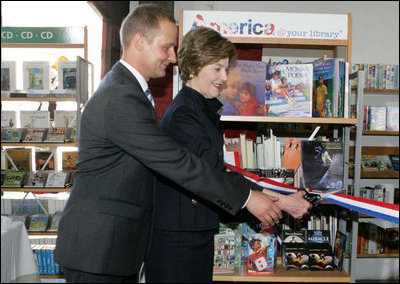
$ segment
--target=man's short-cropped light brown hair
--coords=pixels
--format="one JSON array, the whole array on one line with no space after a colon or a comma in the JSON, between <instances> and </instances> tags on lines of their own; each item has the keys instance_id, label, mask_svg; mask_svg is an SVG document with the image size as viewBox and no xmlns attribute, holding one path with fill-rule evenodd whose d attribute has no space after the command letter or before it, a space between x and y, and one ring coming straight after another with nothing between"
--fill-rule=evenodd
<instances>
[{"instance_id":1,"label":"man's short-cropped light brown hair","mask_svg":"<svg viewBox=\"0 0 400 284\"><path fill-rule=\"evenodd\" d=\"M131 11L121 25L120 39L122 48L127 48L133 36L137 33L143 34L151 41L158 31L158 23L161 20L176 23L175 19L166 10L155 4L142 4Z\"/></svg>"}]
</instances>

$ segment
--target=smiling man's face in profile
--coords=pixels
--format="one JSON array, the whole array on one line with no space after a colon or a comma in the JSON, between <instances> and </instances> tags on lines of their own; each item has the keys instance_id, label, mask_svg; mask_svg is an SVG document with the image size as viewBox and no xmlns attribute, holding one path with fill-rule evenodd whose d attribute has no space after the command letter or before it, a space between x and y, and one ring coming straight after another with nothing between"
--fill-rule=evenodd
<instances>
[{"instance_id":1,"label":"smiling man's face in profile","mask_svg":"<svg viewBox=\"0 0 400 284\"><path fill-rule=\"evenodd\" d=\"M168 20L159 22L159 30L152 40L145 39L142 52L144 68L141 73L146 81L150 78L164 77L168 65L176 62L176 40L176 25Z\"/></svg>"}]
</instances>

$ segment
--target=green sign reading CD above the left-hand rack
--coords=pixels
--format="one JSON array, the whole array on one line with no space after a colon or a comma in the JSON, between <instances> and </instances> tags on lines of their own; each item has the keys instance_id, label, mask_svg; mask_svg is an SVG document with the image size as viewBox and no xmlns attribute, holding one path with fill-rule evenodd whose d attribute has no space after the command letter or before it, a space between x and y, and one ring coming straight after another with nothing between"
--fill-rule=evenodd
<instances>
[{"instance_id":1,"label":"green sign reading CD above the left-hand rack","mask_svg":"<svg viewBox=\"0 0 400 284\"><path fill-rule=\"evenodd\" d=\"M83 44L83 27L1 27L1 43Z\"/></svg>"}]
</instances>

